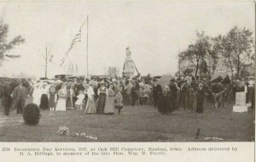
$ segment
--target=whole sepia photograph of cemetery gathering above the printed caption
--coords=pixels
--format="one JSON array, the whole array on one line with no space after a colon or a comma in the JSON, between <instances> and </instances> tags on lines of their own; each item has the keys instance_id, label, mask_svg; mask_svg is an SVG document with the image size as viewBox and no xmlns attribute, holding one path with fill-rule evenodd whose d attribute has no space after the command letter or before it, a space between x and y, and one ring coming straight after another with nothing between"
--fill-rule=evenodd
<instances>
[{"instance_id":1,"label":"whole sepia photograph of cemetery gathering above the printed caption","mask_svg":"<svg viewBox=\"0 0 256 162\"><path fill-rule=\"evenodd\" d=\"M1 1L0 142L254 142L253 1Z\"/></svg>"}]
</instances>

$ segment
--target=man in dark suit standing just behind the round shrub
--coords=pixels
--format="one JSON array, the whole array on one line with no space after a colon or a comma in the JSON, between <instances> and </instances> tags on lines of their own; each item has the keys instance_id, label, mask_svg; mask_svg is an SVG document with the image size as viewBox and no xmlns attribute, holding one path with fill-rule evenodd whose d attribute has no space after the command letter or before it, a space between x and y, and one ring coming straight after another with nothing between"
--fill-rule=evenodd
<instances>
[{"instance_id":1,"label":"man in dark suit standing just behind the round shrub","mask_svg":"<svg viewBox=\"0 0 256 162\"><path fill-rule=\"evenodd\" d=\"M17 114L22 115L22 110L25 107L25 100L27 96L26 88L23 87L22 81L19 82L19 86L15 87L13 99L14 99L14 109L17 109Z\"/></svg>"}]
</instances>

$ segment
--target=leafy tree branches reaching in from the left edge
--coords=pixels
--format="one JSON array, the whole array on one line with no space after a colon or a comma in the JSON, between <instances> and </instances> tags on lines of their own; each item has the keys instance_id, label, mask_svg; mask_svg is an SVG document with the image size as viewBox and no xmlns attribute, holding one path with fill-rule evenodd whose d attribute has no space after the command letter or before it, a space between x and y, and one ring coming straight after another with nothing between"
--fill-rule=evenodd
<instances>
[{"instance_id":1,"label":"leafy tree branches reaching in from the left edge","mask_svg":"<svg viewBox=\"0 0 256 162\"><path fill-rule=\"evenodd\" d=\"M15 38L8 42L8 32L9 25L4 24L3 21L0 20L0 61L20 58L20 55L9 54L8 52L20 43L25 42L22 36L15 36Z\"/></svg>"}]
</instances>

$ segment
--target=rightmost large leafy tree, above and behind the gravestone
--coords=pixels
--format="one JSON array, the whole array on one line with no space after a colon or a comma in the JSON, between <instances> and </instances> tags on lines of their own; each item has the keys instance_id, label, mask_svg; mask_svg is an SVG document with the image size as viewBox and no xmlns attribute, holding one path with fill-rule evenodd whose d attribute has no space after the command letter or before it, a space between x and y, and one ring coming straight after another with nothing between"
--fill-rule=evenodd
<instances>
[{"instance_id":1,"label":"rightmost large leafy tree, above and behind the gravestone","mask_svg":"<svg viewBox=\"0 0 256 162\"><path fill-rule=\"evenodd\" d=\"M241 69L253 67L253 32L246 28L233 27L226 36L217 36L215 50L224 59L224 65L230 69L232 78L241 78Z\"/></svg>"}]
</instances>

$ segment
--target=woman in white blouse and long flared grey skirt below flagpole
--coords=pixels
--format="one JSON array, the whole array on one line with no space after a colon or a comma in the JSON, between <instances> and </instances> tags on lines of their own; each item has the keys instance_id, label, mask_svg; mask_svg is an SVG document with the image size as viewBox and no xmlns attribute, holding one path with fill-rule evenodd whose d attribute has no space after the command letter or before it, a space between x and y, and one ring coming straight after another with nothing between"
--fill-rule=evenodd
<instances>
[{"instance_id":1,"label":"woman in white blouse and long flared grey skirt below flagpole","mask_svg":"<svg viewBox=\"0 0 256 162\"><path fill-rule=\"evenodd\" d=\"M90 87L88 88L87 90L87 96L88 96L88 99L87 99L87 103L86 103L86 107L85 107L85 111L84 113L86 114L96 114L96 105L95 105L95 102L94 102L94 91L93 91L93 87Z\"/></svg>"}]
</instances>

